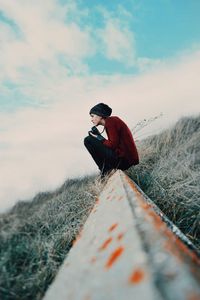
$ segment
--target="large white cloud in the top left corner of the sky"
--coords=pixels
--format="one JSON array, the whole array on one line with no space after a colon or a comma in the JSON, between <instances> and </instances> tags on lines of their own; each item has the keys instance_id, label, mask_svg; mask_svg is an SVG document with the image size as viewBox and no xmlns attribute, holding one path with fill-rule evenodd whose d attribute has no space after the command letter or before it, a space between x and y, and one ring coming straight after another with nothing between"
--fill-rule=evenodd
<instances>
[{"instance_id":1,"label":"large white cloud in the top left corner of the sky","mask_svg":"<svg viewBox=\"0 0 200 300\"><path fill-rule=\"evenodd\" d=\"M76 23L65 23L71 3L61 6L55 0L0 0L0 5L3 14L20 32L19 37L10 25L0 24L3 35L0 65L4 78L18 80L20 68L37 70L41 62L55 64L58 55L66 57L75 73L76 64L80 66L80 61L95 51L89 28L82 30Z\"/></svg>"}]
</instances>

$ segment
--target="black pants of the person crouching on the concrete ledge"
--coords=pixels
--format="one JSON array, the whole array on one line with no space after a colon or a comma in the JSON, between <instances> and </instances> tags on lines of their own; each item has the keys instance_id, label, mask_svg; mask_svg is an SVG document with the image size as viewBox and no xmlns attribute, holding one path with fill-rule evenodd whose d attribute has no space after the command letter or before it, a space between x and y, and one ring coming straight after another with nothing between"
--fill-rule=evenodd
<instances>
[{"instance_id":1,"label":"black pants of the person crouching on the concrete ledge","mask_svg":"<svg viewBox=\"0 0 200 300\"><path fill-rule=\"evenodd\" d=\"M102 175L112 169L127 170L130 164L122 157L118 157L114 150L102 144L93 136L84 139L84 145L96 162Z\"/></svg>"}]
</instances>

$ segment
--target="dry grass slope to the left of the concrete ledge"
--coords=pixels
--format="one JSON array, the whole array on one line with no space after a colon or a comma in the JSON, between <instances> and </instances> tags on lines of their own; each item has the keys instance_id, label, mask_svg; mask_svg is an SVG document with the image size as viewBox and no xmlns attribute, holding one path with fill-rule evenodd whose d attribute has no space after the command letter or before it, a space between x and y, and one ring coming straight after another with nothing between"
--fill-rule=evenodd
<instances>
[{"instance_id":1,"label":"dry grass slope to the left of the concrete ledge","mask_svg":"<svg viewBox=\"0 0 200 300\"><path fill-rule=\"evenodd\" d=\"M102 188L99 176L67 180L0 215L0 299L43 297Z\"/></svg>"}]
</instances>

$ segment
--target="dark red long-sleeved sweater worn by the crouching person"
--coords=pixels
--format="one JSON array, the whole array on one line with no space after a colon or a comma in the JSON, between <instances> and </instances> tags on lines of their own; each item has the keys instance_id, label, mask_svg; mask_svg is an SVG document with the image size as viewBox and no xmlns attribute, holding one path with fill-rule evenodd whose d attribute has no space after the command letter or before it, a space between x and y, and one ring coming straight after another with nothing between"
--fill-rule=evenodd
<instances>
[{"instance_id":1,"label":"dark red long-sleeved sweater worn by the crouching person","mask_svg":"<svg viewBox=\"0 0 200 300\"><path fill-rule=\"evenodd\" d=\"M103 144L115 150L118 156L124 157L130 166L139 163L138 151L128 126L116 116L105 119L105 130L108 140Z\"/></svg>"}]
</instances>

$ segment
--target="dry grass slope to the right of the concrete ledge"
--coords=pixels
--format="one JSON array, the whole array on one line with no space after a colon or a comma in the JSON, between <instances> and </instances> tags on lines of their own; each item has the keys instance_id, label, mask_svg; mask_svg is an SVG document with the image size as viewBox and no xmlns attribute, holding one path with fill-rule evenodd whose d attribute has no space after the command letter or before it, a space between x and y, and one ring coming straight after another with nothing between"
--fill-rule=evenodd
<instances>
[{"instance_id":1,"label":"dry grass slope to the right of the concrete ledge","mask_svg":"<svg viewBox=\"0 0 200 300\"><path fill-rule=\"evenodd\" d=\"M140 164L126 173L200 248L200 115L138 143Z\"/></svg>"}]
</instances>

